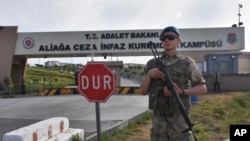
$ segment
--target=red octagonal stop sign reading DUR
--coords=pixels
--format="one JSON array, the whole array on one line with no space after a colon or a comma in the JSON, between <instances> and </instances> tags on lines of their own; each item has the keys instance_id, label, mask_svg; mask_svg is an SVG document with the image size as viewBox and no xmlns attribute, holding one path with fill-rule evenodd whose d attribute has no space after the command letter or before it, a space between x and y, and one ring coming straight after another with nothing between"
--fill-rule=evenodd
<instances>
[{"instance_id":1,"label":"red octagonal stop sign reading DUR","mask_svg":"<svg viewBox=\"0 0 250 141\"><path fill-rule=\"evenodd\" d=\"M106 102L115 92L115 74L104 63L87 63L78 74L78 90L89 102Z\"/></svg>"}]
</instances>

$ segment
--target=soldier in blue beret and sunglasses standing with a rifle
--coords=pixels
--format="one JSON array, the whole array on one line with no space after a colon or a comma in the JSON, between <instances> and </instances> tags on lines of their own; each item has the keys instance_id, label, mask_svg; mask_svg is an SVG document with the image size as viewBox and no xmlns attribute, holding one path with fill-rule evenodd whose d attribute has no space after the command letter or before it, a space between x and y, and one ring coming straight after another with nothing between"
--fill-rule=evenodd
<instances>
[{"instance_id":1,"label":"soldier in blue beret and sunglasses standing with a rifle","mask_svg":"<svg viewBox=\"0 0 250 141\"><path fill-rule=\"evenodd\" d=\"M207 87L195 61L177 51L177 46L181 42L179 35L179 30L174 26L163 29L160 34L164 47L161 60L167 67L176 92L188 110L190 96L206 94ZM149 109L153 110L151 141L192 141L191 131L178 132L187 129L187 124L179 111L175 97L164 85L164 80L165 76L160 71L156 60L149 60L140 90L143 95L149 94ZM191 87L187 82L190 82Z\"/></svg>"}]
</instances>

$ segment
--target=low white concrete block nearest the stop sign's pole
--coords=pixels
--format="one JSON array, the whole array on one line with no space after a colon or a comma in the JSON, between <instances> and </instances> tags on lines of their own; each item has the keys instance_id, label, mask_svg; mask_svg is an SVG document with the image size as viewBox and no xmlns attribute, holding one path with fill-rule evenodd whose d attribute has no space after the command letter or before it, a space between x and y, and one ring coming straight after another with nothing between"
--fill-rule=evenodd
<instances>
[{"instance_id":1,"label":"low white concrete block nearest the stop sign's pole","mask_svg":"<svg viewBox=\"0 0 250 141\"><path fill-rule=\"evenodd\" d=\"M69 128L67 131L57 134L47 141L71 141L73 136L78 136L79 139L83 140L84 130Z\"/></svg>"}]
</instances>

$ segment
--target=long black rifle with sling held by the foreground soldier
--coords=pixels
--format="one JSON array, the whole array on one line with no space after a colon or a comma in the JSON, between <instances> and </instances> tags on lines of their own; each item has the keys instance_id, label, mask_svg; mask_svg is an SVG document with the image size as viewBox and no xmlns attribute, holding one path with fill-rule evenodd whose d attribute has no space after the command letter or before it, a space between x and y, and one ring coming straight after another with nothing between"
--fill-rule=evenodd
<instances>
[{"instance_id":1,"label":"long black rifle with sling held by the foreground soldier","mask_svg":"<svg viewBox=\"0 0 250 141\"><path fill-rule=\"evenodd\" d=\"M185 133L185 132L188 132L188 131L191 131L192 134L193 134L193 137L195 139L195 141L198 141L198 139L196 138L196 136L194 135L194 131L193 131L193 126L194 124L191 123L191 120L187 114L187 111L182 103L182 100L180 99L180 96L179 94L177 93L176 89L174 88L174 85L173 85L173 81L172 81L172 78L171 76L169 75L168 71L166 70L166 67L164 65L164 63L162 62L162 60L160 59L160 56L159 56L159 53L157 52L157 49L155 47L152 47L154 44L152 43L152 41L149 42L149 46L152 50L152 53L154 55L154 58L155 60L157 61L157 63L159 64L159 69L161 72L164 73L165 75L165 86L167 86L167 88L171 91L171 93L174 95L175 99L176 99L176 102L178 104L178 107L179 107L179 110L182 114L182 116L184 117L185 121L186 121L186 124L188 125L188 128L185 129L184 131L178 131L171 123L170 121L167 119L166 115L164 114L163 111L159 110L160 111L160 114L164 117L165 121L169 124L169 126L177 131L177 132L181 132L181 133ZM160 102L161 104L161 102ZM161 108L161 106L159 107Z\"/></svg>"}]
</instances>

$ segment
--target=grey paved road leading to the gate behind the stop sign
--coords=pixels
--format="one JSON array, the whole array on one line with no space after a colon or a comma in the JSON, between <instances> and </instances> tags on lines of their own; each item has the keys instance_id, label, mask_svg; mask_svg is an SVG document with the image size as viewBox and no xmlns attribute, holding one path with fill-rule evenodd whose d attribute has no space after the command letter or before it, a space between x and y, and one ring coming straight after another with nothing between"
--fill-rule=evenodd
<instances>
[{"instance_id":1,"label":"grey paved road leading to the gate behind the stop sign","mask_svg":"<svg viewBox=\"0 0 250 141\"><path fill-rule=\"evenodd\" d=\"M129 80L122 84L138 85ZM145 113L148 96L113 95L106 103L100 103L101 128L113 130ZM88 102L81 95L33 96L0 98L0 140L6 132L51 117L67 117L71 128L82 128L85 137L91 138L96 132L95 103ZM92 138L94 139L94 138Z\"/></svg>"}]
</instances>

